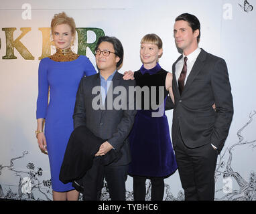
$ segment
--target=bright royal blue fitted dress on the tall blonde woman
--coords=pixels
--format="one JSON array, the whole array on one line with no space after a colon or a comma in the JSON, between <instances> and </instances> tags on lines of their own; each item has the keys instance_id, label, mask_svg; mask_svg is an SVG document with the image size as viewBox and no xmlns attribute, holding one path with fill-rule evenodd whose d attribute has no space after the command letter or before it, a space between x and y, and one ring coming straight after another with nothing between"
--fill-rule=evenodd
<instances>
[{"instance_id":1,"label":"bright royal blue fitted dress on the tall blonde woman","mask_svg":"<svg viewBox=\"0 0 256 214\"><path fill-rule=\"evenodd\" d=\"M41 60L38 70L36 118L45 118L45 135L50 160L52 189L57 192L74 189L72 183L59 180L60 167L73 128L72 115L81 78L97 74L86 56L70 62ZM48 93L50 86L50 102Z\"/></svg>"}]
</instances>

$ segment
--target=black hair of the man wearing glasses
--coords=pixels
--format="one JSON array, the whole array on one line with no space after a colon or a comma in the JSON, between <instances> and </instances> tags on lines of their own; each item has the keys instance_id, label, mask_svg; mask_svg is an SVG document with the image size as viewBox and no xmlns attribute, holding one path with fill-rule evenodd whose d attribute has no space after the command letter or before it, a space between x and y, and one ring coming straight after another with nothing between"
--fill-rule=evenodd
<instances>
[{"instance_id":1,"label":"black hair of the man wearing glasses","mask_svg":"<svg viewBox=\"0 0 256 214\"><path fill-rule=\"evenodd\" d=\"M116 37L110 37L107 35L101 36L101 37L99 37L99 40L95 47L95 51L98 49L99 45L103 41L107 41L107 42L110 42L113 44L113 47L115 49L115 55L120 58L119 62L117 62L117 68L119 68L119 66L121 66L121 64L123 63L123 45L122 45L121 41L119 39L117 39Z\"/></svg>"}]
</instances>

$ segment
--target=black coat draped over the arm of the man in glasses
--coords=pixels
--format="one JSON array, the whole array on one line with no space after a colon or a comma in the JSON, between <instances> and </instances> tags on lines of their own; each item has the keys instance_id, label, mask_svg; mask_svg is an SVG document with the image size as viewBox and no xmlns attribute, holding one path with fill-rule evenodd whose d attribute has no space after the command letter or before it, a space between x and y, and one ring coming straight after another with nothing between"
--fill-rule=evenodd
<instances>
[{"instance_id":1,"label":"black coat draped over the arm of the man in glasses","mask_svg":"<svg viewBox=\"0 0 256 214\"><path fill-rule=\"evenodd\" d=\"M60 168L59 179L63 183L78 181L92 167L94 154L99 150L103 140L88 130L86 126L78 126L70 134L68 145ZM101 165L109 165L119 160L121 152L113 149L101 156Z\"/></svg>"}]
</instances>

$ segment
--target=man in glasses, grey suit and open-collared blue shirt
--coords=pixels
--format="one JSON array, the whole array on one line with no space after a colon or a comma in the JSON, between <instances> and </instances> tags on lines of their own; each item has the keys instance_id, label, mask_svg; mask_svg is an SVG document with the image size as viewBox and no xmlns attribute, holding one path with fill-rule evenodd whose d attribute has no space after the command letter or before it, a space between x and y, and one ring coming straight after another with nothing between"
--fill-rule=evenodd
<instances>
[{"instance_id":1,"label":"man in glasses, grey suit and open-collared blue shirt","mask_svg":"<svg viewBox=\"0 0 256 214\"><path fill-rule=\"evenodd\" d=\"M129 109L133 106L131 102L134 102L134 97L130 99L128 92L129 86L135 87L135 81L125 81L123 75L117 72L123 62L123 46L119 39L100 37L95 55L99 73L86 76L80 82L74 108L74 128L85 125L105 142L101 144L92 168L84 177L83 199L99 200L105 177L111 200L125 201L125 181L131 160L127 136L136 114L134 108ZM125 88L127 93L115 93L118 87ZM121 108L117 108L120 107L117 106L119 102L114 102L113 105L113 100L117 98L125 102ZM121 152L121 157L110 165L103 166L101 157L110 150ZM103 169L103 176L99 169Z\"/></svg>"}]
</instances>

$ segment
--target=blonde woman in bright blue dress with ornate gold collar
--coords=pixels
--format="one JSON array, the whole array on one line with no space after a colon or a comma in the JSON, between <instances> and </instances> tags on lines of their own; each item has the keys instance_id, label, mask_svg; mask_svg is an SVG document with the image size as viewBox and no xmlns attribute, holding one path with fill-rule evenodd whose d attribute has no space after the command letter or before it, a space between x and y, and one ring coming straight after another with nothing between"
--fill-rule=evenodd
<instances>
[{"instance_id":1,"label":"blonde woman in bright blue dress with ornate gold collar","mask_svg":"<svg viewBox=\"0 0 256 214\"><path fill-rule=\"evenodd\" d=\"M73 130L72 114L78 85L84 75L97 72L86 56L78 56L70 48L76 35L72 17L64 12L54 15L51 29L56 53L42 59L39 65L36 136L40 149L48 152L54 201L75 201L79 193L72 183L64 184L59 180L60 167Z\"/></svg>"}]
</instances>

